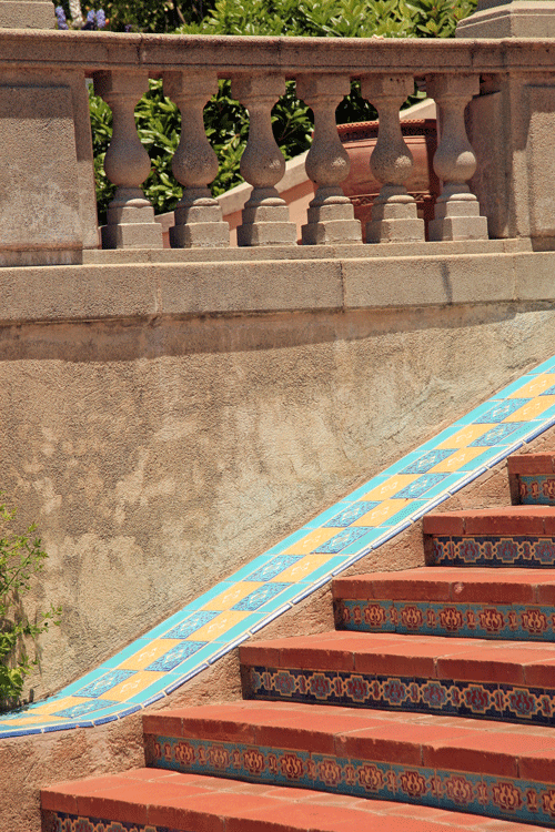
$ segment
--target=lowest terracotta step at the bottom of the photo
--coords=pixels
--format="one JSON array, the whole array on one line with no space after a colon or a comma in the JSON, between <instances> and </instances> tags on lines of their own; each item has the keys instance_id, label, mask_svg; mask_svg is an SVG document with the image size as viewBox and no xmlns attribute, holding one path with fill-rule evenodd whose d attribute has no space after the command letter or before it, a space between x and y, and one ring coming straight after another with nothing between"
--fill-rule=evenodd
<instances>
[{"instance_id":1,"label":"lowest terracotta step at the bottom of the photo","mask_svg":"<svg viewBox=\"0 0 555 832\"><path fill-rule=\"evenodd\" d=\"M143 832L495 832L492 821L434 806L371 801L314 790L283 789L212 777L135 769L42 792L44 832L64 829L67 819L134 824ZM83 824L84 826L84 824ZM534 832L517 822L503 832ZM501 832L501 831L500 831Z\"/></svg>"}]
</instances>

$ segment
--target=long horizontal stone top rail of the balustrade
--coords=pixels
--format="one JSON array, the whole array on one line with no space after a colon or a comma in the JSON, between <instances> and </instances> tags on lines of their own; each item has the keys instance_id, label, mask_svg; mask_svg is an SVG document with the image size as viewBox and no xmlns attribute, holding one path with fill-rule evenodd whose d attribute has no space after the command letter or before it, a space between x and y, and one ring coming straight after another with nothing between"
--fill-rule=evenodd
<instances>
[{"instance_id":1,"label":"long horizontal stone top rail of the balustrade","mask_svg":"<svg viewBox=\"0 0 555 832\"><path fill-rule=\"evenodd\" d=\"M145 69L152 78L169 69L230 73L273 70L351 78L394 69L434 72L542 72L555 69L555 40L440 40L394 38L263 38L0 30L0 65L17 69L80 67L85 72Z\"/></svg>"}]
</instances>

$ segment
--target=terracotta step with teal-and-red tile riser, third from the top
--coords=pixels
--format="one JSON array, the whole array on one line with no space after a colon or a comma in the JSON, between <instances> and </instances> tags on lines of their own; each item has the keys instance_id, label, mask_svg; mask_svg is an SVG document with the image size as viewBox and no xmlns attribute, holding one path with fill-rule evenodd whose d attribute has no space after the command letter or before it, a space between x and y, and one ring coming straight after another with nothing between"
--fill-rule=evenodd
<instances>
[{"instance_id":1,"label":"terracotta step with teal-and-red tile riser, third from the top","mask_svg":"<svg viewBox=\"0 0 555 832\"><path fill-rule=\"evenodd\" d=\"M333 581L337 629L555 641L555 569L423 567Z\"/></svg>"}]
</instances>

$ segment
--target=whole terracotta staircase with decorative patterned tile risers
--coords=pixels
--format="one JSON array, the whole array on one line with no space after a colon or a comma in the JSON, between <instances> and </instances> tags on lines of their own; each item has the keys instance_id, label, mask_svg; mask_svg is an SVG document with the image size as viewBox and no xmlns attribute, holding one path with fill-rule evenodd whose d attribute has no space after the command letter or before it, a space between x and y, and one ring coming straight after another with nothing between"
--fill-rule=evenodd
<instances>
[{"instance_id":1,"label":"whole terracotta staircase with decorative patterned tile risers","mask_svg":"<svg viewBox=\"0 0 555 832\"><path fill-rule=\"evenodd\" d=\"M148 768L46 789L44 832L555 828L554 471L336 579L335 631L243 645L244 701L145 716Z\"/></svg>"}]
</instances>

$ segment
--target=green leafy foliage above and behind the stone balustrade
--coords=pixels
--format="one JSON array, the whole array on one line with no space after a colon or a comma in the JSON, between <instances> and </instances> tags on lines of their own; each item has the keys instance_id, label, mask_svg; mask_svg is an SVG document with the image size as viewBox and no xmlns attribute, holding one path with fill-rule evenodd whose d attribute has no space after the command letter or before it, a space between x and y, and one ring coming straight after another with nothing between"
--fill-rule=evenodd
<instances>
[{"instance_id":1,"label":"green leafy foliage above and behind the stone balustrade","mask_svg":"<svg viewBox=\"0 0 555 832\"><path fill-rule=\"evenodd\" d=\"M147 8L148 7L148 8ZM175 21L184 21L175 31L188 34L246 34L273 37L343 38L450 38L457 22L475 8L475 0L218 0L206 11L201 0L180 3L162 0L109 0L104 4L112 30L131 27L140 31L169 31ZM367 121L376 116L372 105L353 83L336 112L337 122ZM161 81L151 81L150 90L135 110L141 142L152 171L144 191L157 212L171 211L181 187L171 172L178 146L181 119L178 108L163 95ZM91 94L91 123L94 143L99 220L113 194L102 163L111 138L110 109ZM206 135L214 148L220 170L212 184L214 195L242 182L239 164L248 134L248 114L231 97L228 81L204 110ZM312 114L295 97L294 82L287 82L285 95L272 111L275 140L285 159L310 146Z\"/></svg>"}]
</instances>

